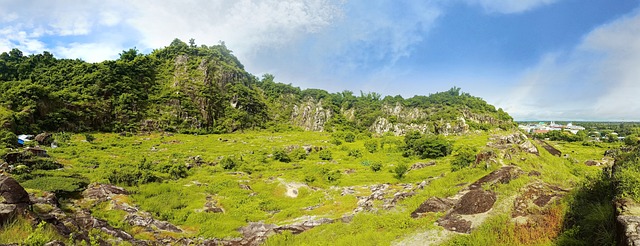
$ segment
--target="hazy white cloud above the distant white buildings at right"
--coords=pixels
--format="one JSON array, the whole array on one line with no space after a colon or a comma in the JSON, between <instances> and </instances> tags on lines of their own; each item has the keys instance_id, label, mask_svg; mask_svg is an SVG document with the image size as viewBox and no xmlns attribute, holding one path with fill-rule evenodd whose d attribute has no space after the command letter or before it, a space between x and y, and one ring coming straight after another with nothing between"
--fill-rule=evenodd
<instances>
[{"instance_id":1,"label":"hazy white cloud above the distant white buildings at right","mask_svg":"<svg viewBox=\"0 0 640 246\"><path fill-rule=\"evenodd\" d=\"M587 34L569 52L549 54L507 97L516 118L640 120L640 14Z\"/></svg>"}]
</instances>

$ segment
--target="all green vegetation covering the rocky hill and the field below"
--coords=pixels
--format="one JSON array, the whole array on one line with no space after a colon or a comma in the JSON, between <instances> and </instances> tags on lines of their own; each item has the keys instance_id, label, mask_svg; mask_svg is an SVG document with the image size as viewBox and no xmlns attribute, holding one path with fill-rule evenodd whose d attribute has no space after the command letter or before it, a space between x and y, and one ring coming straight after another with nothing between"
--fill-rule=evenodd
<instances>
[{"instance_id":1,"label":"all green vegetation covering the rocky hill and the field below","mask_svg":"<svg viewBox=\"0 0 640 246\"><path fill-rule=\"evenodd\" d=\"M123 186L131 194L127 202L184 229L177 233L180 237L233 238L242 236L238 228L249 222L289 225L308 218L340 221L352 216L349 223L276 234L266 244L388 245L418 231L441 230L434 224L442 213L412 218L411 211L428 198L458 194L500 164L515 165L530 175L484 187L497 194L495 210L471 234L443 239L445 245L546 245L556 240L606 244L612 237L594 233L610 229L605 223L611 216L605 203L610 197L595 194L604 193L609 183L587 178L602 168L582 163L598 160L621 143L584 145L580 142L586 133L574 137L558 132L542 137L571 153L570 158L553 156L540 146L539 156L519 152L514 145L492 150L500 156L484 168L467 168L478 150L489 148L490 136L513 134L514 123L502 109L457 87L408 99L301 90L276 82L273 75L247 73L224 43L196 46L178 39L151 54L131 49L115 61L92 64L12 50L0 55L0 67L0 89L5 92L0 95L0 147L15 147L16 133L57 132L53 139L58 147L43 146L51 159L33 157L15 167L13 175L23 186L55 192L63 204L75 202L69 195L89 183ZM324 118L323 131L302 131L320 108L331 115ZM395 108L417 113L390 113ZM301 115L307 118L296 118ZM395 126L419 124L424 131L402 137L373 133L372 126L385 122L382 119ZM472 131L444 136L448 124ZM616 128L624 129L628 127ZM634 143L629 140L627 145ZM638 157L620 158L625 164L613 174L623 188L619 195L637 200ZM410 170L423 159L437 165ZM541 223L512 223L507 215L511 198L533 181L567 188L584 185L539 211ZM422 183L427 187L411 192L406 188ZM371 195L379 184L390 188L373 201L376 212L355 213L362 205L359 197ZM412 195L399 199L395 208L382 209L381 203L395 200L395 194ZM224 212L206 212L206 204ZM98 204L91 213L139 234L139 228L123 222L124 212L107 206ZM0 242L41 244L54 238L48 225L34 229L20 223L3 227ZM603 226L595 226L598 223ZM104 235L95 230L89 236L97 241Z\"/></svg>"}]
</instances>

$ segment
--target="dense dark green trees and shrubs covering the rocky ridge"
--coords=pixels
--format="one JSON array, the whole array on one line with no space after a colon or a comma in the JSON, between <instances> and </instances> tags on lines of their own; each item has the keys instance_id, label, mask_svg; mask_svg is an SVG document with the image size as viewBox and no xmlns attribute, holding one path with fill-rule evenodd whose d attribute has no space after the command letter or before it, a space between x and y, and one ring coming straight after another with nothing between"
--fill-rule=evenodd
<instances>
[{"instance_id":1,"label":"dense dark green trees and shrubs covering the rocky ridge","mask_svg":"<svg viewBox=\"0 0 640 246\"><path fill-rule=\"evenodd\" d=\"M435 133L442 122L462 116L489 119L469 121L472 129L513 127L508 114L460 88L409 99L301 90L275 82L273 75L249 74L224 43L196 46L178 39L150 54L130 49L100 63L56 59L48 52L26 56L14 49L0 55L0 89L0 123L14 133L282 131L295 129L293 108L304 102L320 102L332 112L325 125L329 130L364 132L381 117L428 124ZM385 113L384 107L394 106L426 114L405 119ZM353 142L352 131L339 140ZM0 137L0 142L11 141L5 133Z\"/></svg>"}]
</instances>

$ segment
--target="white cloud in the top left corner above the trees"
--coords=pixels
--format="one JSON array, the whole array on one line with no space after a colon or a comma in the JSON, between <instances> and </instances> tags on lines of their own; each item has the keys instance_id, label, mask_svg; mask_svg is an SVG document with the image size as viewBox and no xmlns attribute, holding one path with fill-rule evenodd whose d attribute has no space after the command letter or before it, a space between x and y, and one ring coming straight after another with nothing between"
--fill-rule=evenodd
<instances>
[{"instance_id":1,"label":"white cloud in the top left corner above the trees","mask_svg":"<svg viewBox=\"0 0 640 246\"><path fill-rule=\"evenodd\" d=\"M59 54L73 54L69 50L57 48L52 39L69 36L83 37L86 45L64 44L66 47L91 47L97 40L96 37L104 37L105 34L97 31L105 26L113 26L119 23L120 16L113 13L127 13L126 5L121 1L98 0L68 0L64 3L58 1L33 0L33 1L0 1L0 19L3 27L0 30L0 52L18 48L24 53L40 53L45 50L64 50ZM119 36L123 34L114 34ZM45 43L43 40L47 40ZM111 43L104 47L115 47L122 41L117 37L104 43ZM105 50L103 47L95 47L98 52ZM78 51L78 54L85 51ZM117 55L117 53L116 53ZM67 57L65 58L76 58ZM96 54L95 57L104 57ZM84 57L83 57L84 58Z\"/></svg>"}]
</instances>

